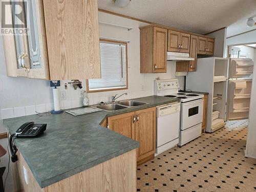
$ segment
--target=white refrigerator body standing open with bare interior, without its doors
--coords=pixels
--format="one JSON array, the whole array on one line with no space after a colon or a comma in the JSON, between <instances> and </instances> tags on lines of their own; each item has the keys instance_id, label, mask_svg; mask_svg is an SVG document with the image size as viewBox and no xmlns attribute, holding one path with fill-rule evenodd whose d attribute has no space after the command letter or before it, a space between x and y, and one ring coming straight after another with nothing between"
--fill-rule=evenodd
<instances>
[{"instance_id":1,"label":"white refrigerator body standing open with bare interior, without its doors","mask_svg":"<svg viewBox=\"0 0 256 192\"><path fill-rule=\"evenodd\" d=\"M198 58L197 71L186 76L186 89L208 92L205 131L212 133L226 124L228 58Z\"/></svg>"}]
</instances>

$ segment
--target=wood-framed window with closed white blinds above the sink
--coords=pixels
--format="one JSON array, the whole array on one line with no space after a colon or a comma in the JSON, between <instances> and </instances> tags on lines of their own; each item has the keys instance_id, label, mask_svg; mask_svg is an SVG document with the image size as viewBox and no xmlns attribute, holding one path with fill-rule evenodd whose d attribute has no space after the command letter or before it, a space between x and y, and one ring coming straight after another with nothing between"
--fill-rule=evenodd
<instances>
[{"instance_id":1,"label":"wood-framed window with closed white blinds above the sink","mask_svg":"<svg viewBox=\"0 0 256 192\"><path fill-rule=\"evenodd\" d=\"M100 79L87 80L87 92L127 89L127 43L100 39Z\"/></svg>"}]
</instances>

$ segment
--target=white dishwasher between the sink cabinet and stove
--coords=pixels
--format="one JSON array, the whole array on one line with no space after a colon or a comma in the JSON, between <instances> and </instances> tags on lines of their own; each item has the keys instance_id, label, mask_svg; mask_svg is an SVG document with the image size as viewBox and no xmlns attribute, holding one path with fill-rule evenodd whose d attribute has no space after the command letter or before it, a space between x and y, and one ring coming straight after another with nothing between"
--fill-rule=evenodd
<instances>
[{"instance_id":1,"label":"white dishwasher between the sink cabinet and stove","mask_svg":"<svg viewBox=\"0 0 256 192\"><path fill-rule=\"evenodd\" d=\"M155 156L179 143L179 130L180 102L158 106Z\"/></svg>"}]
</instances>

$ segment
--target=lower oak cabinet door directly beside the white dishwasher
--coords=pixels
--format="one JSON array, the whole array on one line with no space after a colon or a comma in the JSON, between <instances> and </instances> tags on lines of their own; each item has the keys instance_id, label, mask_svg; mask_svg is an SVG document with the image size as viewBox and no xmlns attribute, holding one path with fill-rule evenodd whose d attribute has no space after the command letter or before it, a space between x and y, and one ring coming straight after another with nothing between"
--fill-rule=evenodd
<instances>
[{"instance_id":1,"label":"lower oak cabinet door directly beside the white dishwasher","mask_svg":"<svg viewBox=\"0 0 256 192\"><path fill-rule=\"evenodd\" d=\"M140 142L137 150L140 161L156 152L156 108L135 112L135 139Z\"/></svg>"}]
</instances>

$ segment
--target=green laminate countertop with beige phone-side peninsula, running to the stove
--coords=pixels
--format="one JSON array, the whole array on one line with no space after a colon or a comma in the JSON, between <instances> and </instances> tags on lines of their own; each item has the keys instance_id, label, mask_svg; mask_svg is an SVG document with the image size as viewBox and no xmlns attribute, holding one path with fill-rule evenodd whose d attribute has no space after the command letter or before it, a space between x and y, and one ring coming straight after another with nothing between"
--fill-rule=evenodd
<instances>
[{"instance_id":1,"label":"green laminate countertop with beige phone-side peninsula, running to the stove","mask_svg":"<svg viewBox=\"0 0 256 192\"><path fill-rule=\"evenodd\" d=\"M39 186L44 188L139 147L138 141L100 126L105 118L179 101L177 98L160 96L133 100L150 104L80 116L66 112L53 115L44 113L40 117L29 115L4 119L4 124L7 131L13 134L28 121L47 123L47 130L40 137L15 140Z\"/></svg>"}]
</instances>

